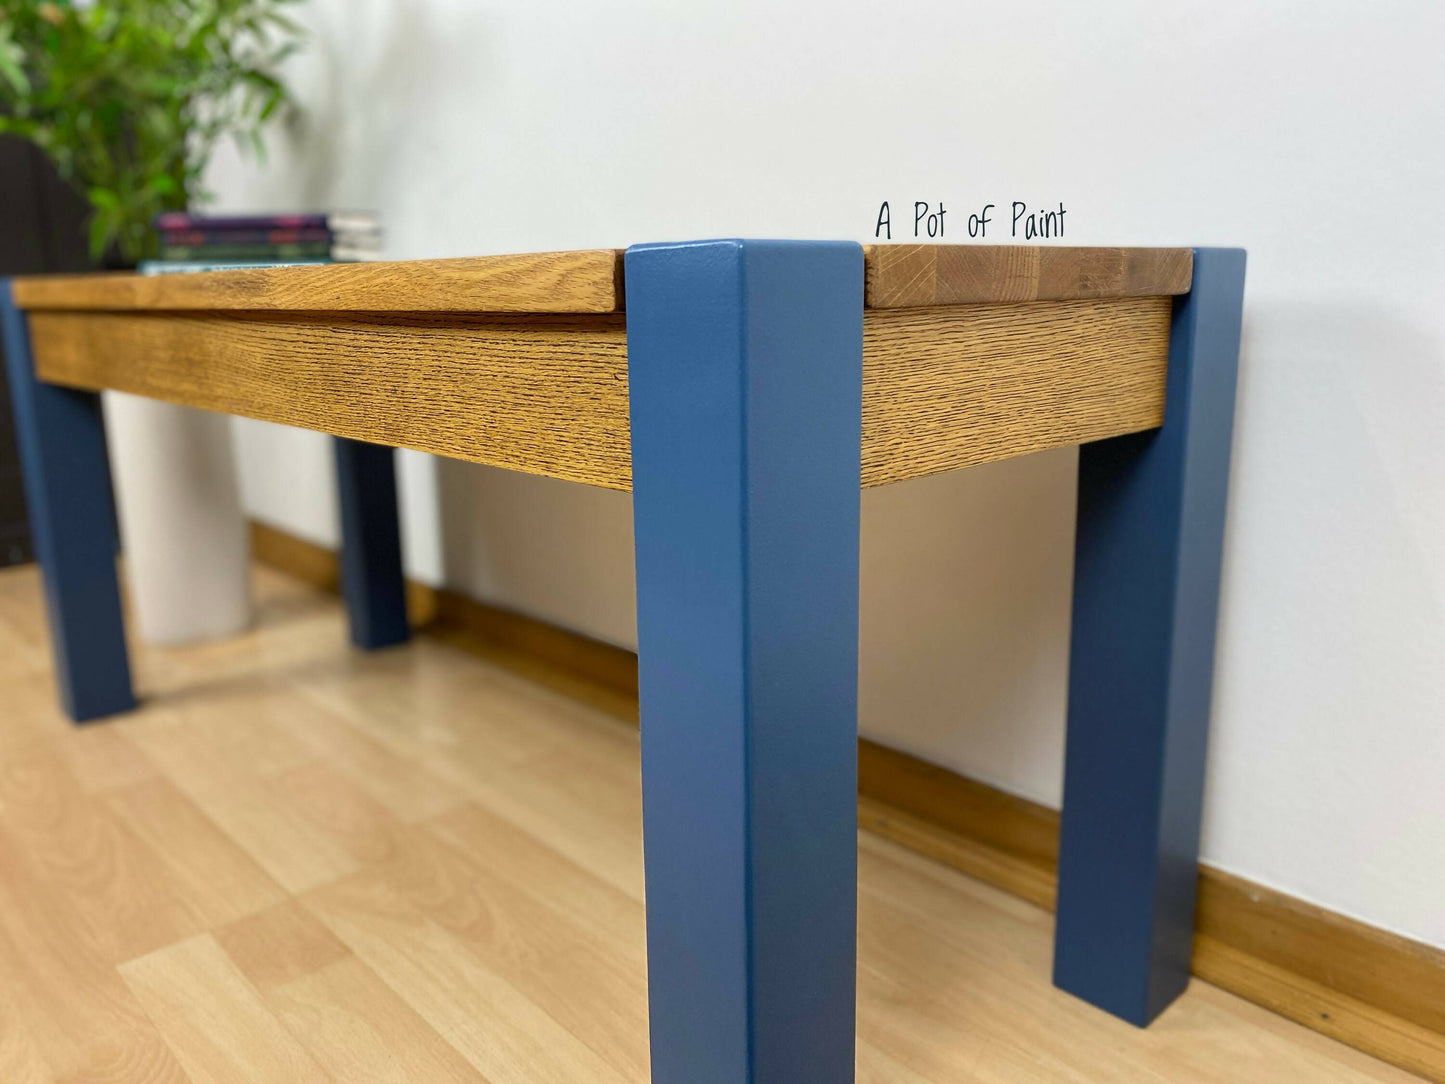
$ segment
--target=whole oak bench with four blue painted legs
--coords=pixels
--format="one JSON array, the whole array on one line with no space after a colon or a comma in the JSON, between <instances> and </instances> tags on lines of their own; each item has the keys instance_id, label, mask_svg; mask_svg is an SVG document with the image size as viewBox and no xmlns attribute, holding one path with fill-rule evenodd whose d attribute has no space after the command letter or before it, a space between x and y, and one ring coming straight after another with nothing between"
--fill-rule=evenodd
<instances>
[{"instance_id":1,"label":"whole oak bench with four blue painted legs","mask_svg":"<svg viewBox=\"0 0 1445 1084\"><path fill-rule=\"evenodd\" d=\"M701 241L32 278L4 341L61 698L133 707L98 396L334 434L353 640L393 447L631 490L653 1078L853 1074L858 493L1079 444L1055 981L1188 981L1244 253Z\"/></svg>"}]
</instances>

